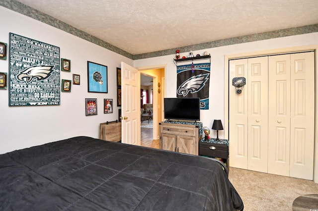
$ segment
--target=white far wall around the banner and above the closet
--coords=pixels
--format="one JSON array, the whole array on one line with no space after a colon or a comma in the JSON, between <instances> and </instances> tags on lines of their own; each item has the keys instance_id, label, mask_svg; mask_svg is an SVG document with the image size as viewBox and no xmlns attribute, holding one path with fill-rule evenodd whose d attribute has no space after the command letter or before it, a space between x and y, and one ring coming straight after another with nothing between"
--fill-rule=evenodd
<instances>
[{"instance_id":1,"label":"white far wall around the banner and above the closet","mask_svg":"<svg viewBox=\"0 0 318 211\"><path fill-rule=\"evenodd\" d=\"M193 51L196 55L207 51L211 54L211 76L210 76L210 106L208 110L201 110L201 122L204 126L211 129L214 119L221 119L225 124L225 105L224 105L224 92L225 92L225 56L238 53L267 51L273 49L289 48L296 46L306 46L318 44L318 33L311 33L305 35L290 36L284 38L276 38L270 40L263 40L257 42L236 44L231 46L224 46L212 49L203 49L200 51ZM188 52L181 52L183 55L188 55ZM167 69L165 71L165 97L176 97L176 66L173 63L174 54L165 55L153 58L145 58L134 60L134 67L143 68L145 66L153 66L166 63ZM188 61L189 62L189 61ZM195 62L208 62L208 60L197 60ZM180 65L187 64L180 62ZM216 137L216 132L211 131L212 137ZM219 137L224 138L225 131L219 131Z\"/></svg>"}]
</instances>

